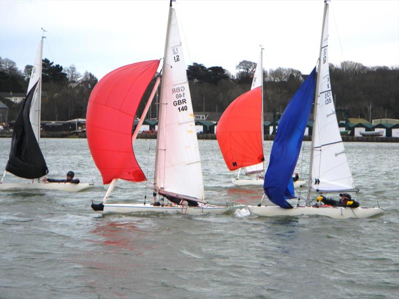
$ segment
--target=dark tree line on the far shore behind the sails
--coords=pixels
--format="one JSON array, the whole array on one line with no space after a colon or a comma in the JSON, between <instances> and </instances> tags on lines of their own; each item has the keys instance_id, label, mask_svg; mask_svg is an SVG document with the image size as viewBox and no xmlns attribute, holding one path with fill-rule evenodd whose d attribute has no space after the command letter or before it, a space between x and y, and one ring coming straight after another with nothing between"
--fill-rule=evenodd
<instances>
[{"instance_id":1,"label":"dark tree line on the far shore behind the sails","mask_svg":"<svg viewBox=\"0 0 399 299\"><path fill-rule=\"evenodd\" d=\"M206 67L193 63L187 68L191 97L195 112L222 112L251 86L256 62L242 60L232 75L221 66ZM0 57L0 92L26 93L32 66L19 70L14 61ZM264 112L284 111L290 98L303 82L306 74L292 68L263 70ZM367 67L361 63L344 61L330 64L330 80L335 105L346 109L350 117L365 119L399 119L399 68ZM137 114L140 116L152 90L154 81L144 94ZM43 59L42 64L42 120L70 120L86 117L91 91L98 79L90 72L80 74L72 64L63 67ZM8 119L14 120L20 104L0 98L8 109ZM156 117L156 101L151 115Z\"/></svg>"}]
</instances>

